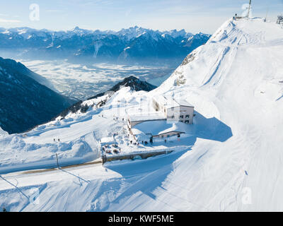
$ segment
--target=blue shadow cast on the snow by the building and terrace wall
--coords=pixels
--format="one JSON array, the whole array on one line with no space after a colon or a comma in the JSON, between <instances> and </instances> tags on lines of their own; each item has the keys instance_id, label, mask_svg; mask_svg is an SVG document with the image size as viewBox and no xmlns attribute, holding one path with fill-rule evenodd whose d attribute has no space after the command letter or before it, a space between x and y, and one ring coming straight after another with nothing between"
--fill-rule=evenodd
<instances>
[{"instance_id":1,"label":"blue shadow cast on the snow by the building and terrace wall","mask_svg":"<svg viewBox=\"0 0 283 226\"><path fill-rule=\"evenodd\" d=\"M185 139L187 148L184 150L174 151L168 155L160 155L158 157L149 157L147 160L128 160L119 164L119 162L106 164L105 167L122 175L121 186L124 182L129 183L127 189L117 196L111 203L119 203L125 197L130 197L141 191L142 194L156 200L153 191L158 187L162 187L162 183L169 174L173 172L174 162L182 155L191 150L191 146L195 145L197 138L203 138L211 141L225 142L233 136L231 128L219 121L215 117L207 119L202 114L195 112L194 124L190 126L190 137ZM168 143L168 147L170 144ZM200 153L202 155L203 153ZM125 181L124 181L125 180ZM118 193L120 187L115 192ZM103 208L108 210L108 207ZM111 207L110 207L111 210Z\"/></svg>"}]
</instances>

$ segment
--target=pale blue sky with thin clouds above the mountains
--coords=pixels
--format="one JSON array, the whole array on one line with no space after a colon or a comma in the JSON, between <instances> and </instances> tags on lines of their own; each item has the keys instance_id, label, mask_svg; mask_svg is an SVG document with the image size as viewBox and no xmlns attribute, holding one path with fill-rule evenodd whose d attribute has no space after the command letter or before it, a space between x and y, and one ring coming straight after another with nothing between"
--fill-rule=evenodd
<instances>
[{"instance_id":1,"label":"pale blue sky with thin clouds above the mountains","mask_svg":"<svg viewBox=\"0 0 283 226\"><path fill-rule=\"evenodd\" d=\"M138 25L154 30L185 29L213 33L248 0L1 0L0 27L120 30ZM30 20L30 4L40 20ZM253 16L275 20L283 0L253 0Z\"/></svg>"}]
</instances>

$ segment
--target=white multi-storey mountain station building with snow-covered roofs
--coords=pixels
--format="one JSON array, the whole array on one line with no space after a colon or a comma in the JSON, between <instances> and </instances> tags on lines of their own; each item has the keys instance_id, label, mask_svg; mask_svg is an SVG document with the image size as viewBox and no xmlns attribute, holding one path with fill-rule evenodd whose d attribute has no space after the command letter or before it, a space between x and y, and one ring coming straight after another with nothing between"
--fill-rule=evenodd
<instances>
[{"instance_id":1,"label":"white multi-storey mountain station building with snow-covered roofs","mask_svg":"<svg viewBox=\"0 0 283 226\"><path fill-rule=\"evenodd\" d=\"M161 95L152 98L151 107L153 113L128 115L128 129L134 138L180 136L186 133L186 124L193 122L194 107L186 100Z\"/></svg>"}]
</instances>

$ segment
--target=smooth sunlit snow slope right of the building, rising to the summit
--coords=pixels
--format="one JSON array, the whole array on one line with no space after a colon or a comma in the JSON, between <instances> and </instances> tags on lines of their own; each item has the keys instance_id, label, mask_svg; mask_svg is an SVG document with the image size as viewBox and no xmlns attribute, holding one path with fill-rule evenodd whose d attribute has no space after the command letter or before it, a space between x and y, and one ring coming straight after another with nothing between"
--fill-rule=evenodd
<instances>
[{"instance_id":1,"label":"smooth sunlit snow slope right of the building, rising to the summit","mask_svg":"<svg viewBox=\"0 0 283 226\"><path fill-rule=\"evenodd\" d=\"M165 183L166 189L212 210L283 210L282 59L279 25L259 18L229 20L156 90L185 97L197 112L216 117L233 133L209 147L196 143L193 151L207 152L190 169L190 157L179 161L170 182L180 182L187 169L182 186L194 189L180 191ZM251 205L241 201L246 191Z\"/></svg>"}]
</instances>

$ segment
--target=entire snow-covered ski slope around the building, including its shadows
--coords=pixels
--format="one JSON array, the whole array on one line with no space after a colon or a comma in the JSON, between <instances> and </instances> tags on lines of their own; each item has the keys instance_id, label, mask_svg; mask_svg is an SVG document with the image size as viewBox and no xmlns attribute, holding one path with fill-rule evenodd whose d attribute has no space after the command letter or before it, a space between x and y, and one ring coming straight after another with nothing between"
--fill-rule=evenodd
<instances>
[{"instance_id":1,"label":"entire snow-covered ski slope around the building, including its shadows","mask_svg":"<svg viewBox=\"0 0 283 226\"><path fill-rule=\"evenodd\" d=\"M71 114L22 138L26 145L44 146L54 137L64 143L78 138L91 143L91 133L100 139L120 131L118 139L125 145L128 140L120 119L129 110L139 111L151 96L166 94L187 100L196 111L190 136L181 138L182 143L151 147L174 148L173 153L67 172L3 174L27 197L37 194L37 202L0 178L0 207L11 211L283 211L282 59L279 25L261 18L226 21L156 90L123 88L103 109ZM119 120L113 120L114 115ZM125 152L136 150L122 147ZM78 152L70 151L69 157L74 153ZM18 164L19 159L23 160L10 155L9 160Z\"/></svg>"}]
</instances>

